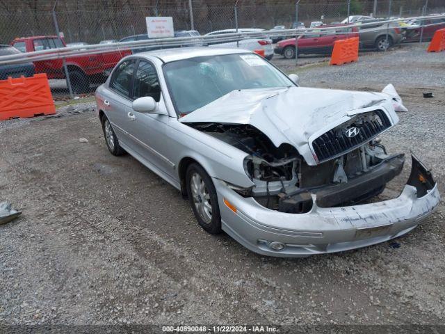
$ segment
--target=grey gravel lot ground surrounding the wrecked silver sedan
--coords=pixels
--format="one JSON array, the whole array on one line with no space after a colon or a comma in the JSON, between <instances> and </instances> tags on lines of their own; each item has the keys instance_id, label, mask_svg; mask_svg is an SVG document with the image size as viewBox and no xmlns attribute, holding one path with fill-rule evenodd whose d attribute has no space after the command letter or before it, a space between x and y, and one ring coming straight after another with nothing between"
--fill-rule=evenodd
<instances>
[{"instance_id":1,"label":"grey gravel lot ground surrounding the wrecked silver sedan","mask_svg":"<svg viewBox=\"0 0 445 334\"><path fill-rule=\"evenodd\" d=\"M415 152L444 193L445 54L424 50L340 67L275 62L302 86L394 84L410 111L382 139L390 152ZM395 242L262 257L205 233L172 186L109 154L91 110L3 122L0 136L0 200L23 211L0 226L0 324L444 324L443 204ZM408 159L382 198L409 169Z\"/></svg>"}]
</instances>

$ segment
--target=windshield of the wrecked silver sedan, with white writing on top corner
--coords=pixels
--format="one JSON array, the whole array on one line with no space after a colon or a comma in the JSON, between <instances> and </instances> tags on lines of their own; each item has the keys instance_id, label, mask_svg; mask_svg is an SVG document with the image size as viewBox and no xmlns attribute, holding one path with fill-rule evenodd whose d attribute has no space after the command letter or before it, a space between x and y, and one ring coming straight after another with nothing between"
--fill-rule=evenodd
<instances>
[{"instance_id":1,"label":"windshield of the wrecked silver sedan, with white writing on top corner","mask_svg":"<svg viewBox=\"0 0 445 334\"><path fill-rule=\"evenodd\" d=\"M233 90L282 88L293 82L257 54L225 54L163 66L178 115L191 113Z\"/></svg>"}]
</instances>

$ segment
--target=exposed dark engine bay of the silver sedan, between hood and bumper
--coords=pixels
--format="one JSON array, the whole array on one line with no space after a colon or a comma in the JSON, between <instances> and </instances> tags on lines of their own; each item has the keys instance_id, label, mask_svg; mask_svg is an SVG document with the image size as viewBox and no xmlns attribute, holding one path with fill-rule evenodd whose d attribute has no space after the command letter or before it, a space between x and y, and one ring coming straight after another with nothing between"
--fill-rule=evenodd
<instances>
[{"instance_id":1,"label":"exposed dark engine bay of the silver sedan, between hood and bumper","mask_svg":"<svg viewBox=\"0 0 445 334\"><path fill-rule=\"evenodd\" d=\"M314 195L318 207L364 202L381 193L386 183L401 173L405 160L403 154L390 157L378 139L366 141L367 137L363 137L366 143L358 145L357 140L357 147L351 147L345 154L309 166L292 145L283 143L277 148L252 125L189 125L249 154L244 168L255 186L249 189L229 186L241 196L253 197L264 207L280 212L309 212ZM373 126L380 125L373 123ZM375 134L378 132L376 128ZM369 135L371 138L371 132Z\"/></svg>"}]
</instances>

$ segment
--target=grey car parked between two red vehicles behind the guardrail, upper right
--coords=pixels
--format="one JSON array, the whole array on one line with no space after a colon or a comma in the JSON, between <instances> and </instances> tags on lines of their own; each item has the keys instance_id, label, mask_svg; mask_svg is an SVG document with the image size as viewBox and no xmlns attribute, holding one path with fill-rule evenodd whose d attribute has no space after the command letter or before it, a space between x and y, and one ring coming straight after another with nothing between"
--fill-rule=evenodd
<instances>
[{"instance_id":1,"label":"grey car parked between two red vehicles behind the guardrail, upper right","mask_svg":"<svg viewBox=\"0 0 445 334\"><path fill-rule=\"evenodd\" d=\"M387 23L381 23L382 21L385 21L385 19L365 19L361 21L362 24L371 24L369 26L359 26L361 47L385 51L403 41L404 33L398 22L391 22L388 25Z\"/></svg>"}]
</instances>

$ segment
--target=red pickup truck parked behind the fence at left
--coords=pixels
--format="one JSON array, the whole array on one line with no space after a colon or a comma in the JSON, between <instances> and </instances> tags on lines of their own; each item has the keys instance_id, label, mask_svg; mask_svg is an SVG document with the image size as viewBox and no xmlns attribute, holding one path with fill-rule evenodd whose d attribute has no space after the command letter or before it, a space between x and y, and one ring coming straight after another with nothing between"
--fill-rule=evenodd
<instances>
[{"instance_id":1,"label":"red pickup truck parked behind the fence at left","mask_svg":"<svg viewBox=\"0 0 445 334\"><path fill-rule=\"evenodd\" d=\"M13 47L22 52L66 47L63 38L58 38L57 36L16 38L10 45L13 45ZM118 63L122 57L129 54L131 54L130 50L122 50L66 58L71 86L74 93L86 93L91 82L104 82L116 63ZM46 73L48 79L65 78L62 59L35 61L34 65L35 73Z\"/></svg>"}]
</instances>

